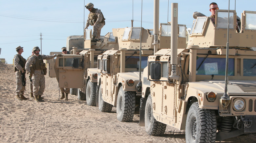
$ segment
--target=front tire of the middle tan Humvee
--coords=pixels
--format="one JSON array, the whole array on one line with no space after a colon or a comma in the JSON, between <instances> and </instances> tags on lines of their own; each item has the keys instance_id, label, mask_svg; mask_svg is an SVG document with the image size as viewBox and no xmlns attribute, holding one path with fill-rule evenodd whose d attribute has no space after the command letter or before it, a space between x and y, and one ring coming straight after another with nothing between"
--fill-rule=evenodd
<instances>
[{"instance_id":1,"label":"front tire of the middle tan Humvee","mask_svg":"<svg viewBox=\"0 0 256 143\"><path fill-rule=\"evenodd\" d=\"M121 122L133 121L135 112L135 92L123 91L120 87L117 96L117 120Z\"/></svg>"}]
</instances>

